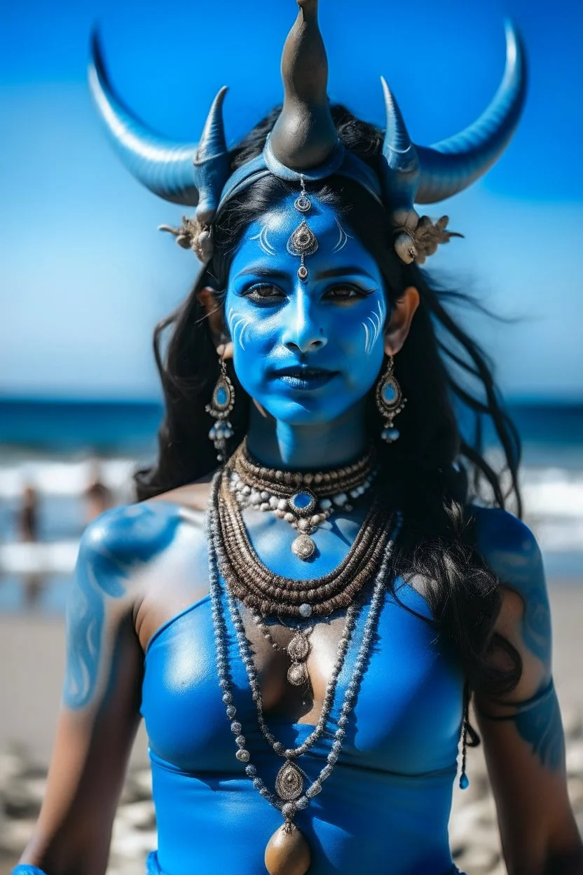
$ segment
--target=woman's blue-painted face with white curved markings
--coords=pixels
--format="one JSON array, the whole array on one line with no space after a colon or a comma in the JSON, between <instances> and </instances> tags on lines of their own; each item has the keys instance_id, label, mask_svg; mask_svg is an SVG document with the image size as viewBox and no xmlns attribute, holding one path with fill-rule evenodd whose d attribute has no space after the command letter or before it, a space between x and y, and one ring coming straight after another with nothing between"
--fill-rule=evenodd
<instances>
[{"instance_id":1,"label":"woman's blue-painted face with white curved markings","mask_svg":"<svg viewBox=\"0 0 583 875\"><path fill-rule=\"evenodd\" d=\"M296 197L247 228L229 272L226 322L246 392L281 422L327 423L376 380L387 305L380 269L350 226L315 198L298 212ZM304 220L308 231L290 240ZM317 249L303 260L304 280L296 253L302 241L314 248L310 233Z\"/></svg>"}]
</instances>

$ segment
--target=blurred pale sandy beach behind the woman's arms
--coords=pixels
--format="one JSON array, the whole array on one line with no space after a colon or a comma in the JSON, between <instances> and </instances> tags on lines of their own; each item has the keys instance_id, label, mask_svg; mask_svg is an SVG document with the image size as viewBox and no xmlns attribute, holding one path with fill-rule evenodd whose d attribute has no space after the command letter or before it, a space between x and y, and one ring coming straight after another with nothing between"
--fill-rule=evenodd
<instances>
[{"instance_id":1,"label":"blurred pale sandy beach behind the woman's arms","mask_svg":"<svg viewBox=\"0 0 583 875\"><path fill-rule=\"evenodd\" d=\"M566 723L569 792L583 832L583 583L549 584L554 634L554 676ZM2 758L13 768L9 789L16 819L4 823L0 875L9 875L31 834L44 790L65 665L65 630L61 617L0 615L0 772ZM7 753L9 752L9 753ZM16 756L13 754L16 752ZM457 865L471 875L504 875L481 749L468 752L470 790L454 792L450 843ZM11 790L10 790L11 786ZM15 798L16 797L16 802ZM26 798L24 798L26 797ZM1 818L0 818L1 820ZM0 823L0 828L2 828ZM2 844L2 843L0 843ZM108 875L142 875L143 859L156 846L151 803L147 741L143 727L135 743L128 781L112 840Z\"/></svg>"}]
</instances>

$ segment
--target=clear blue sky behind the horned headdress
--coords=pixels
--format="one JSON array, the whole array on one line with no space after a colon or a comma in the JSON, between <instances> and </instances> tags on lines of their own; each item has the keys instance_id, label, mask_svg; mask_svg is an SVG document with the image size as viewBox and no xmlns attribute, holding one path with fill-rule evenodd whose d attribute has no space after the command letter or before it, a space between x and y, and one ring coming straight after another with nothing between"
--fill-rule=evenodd
<instances>
[{"instance_id":1,"label":"clear blue sky behind the horned headdress","mask_svg":"<svg viewBox=\"0 0 583 875\"><path fill-rule=\"evenodd\" d=\"M466 239L431 268L515 318L467 319L506 391L583 398L583 6L321 6L332 99L382 123L383 73L423 144L487 105L503 70L503 18L515 19L531 66L523 122L488 176L444 205ZM94 22L117 88L152 127L195 140L228 84L234 141L281 99L294 18L294 0L2 5L0 393L155 397L151 332L195 276L194 259L156 232L182 210L142 190L103 136L86 84Z\"/></svg>"}]
</instances>

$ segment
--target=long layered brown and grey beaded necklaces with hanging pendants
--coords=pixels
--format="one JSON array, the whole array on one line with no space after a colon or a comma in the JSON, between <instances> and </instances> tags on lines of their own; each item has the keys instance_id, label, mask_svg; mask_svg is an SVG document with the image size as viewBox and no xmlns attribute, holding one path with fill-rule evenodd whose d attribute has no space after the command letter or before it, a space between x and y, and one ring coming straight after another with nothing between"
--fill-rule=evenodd
<instances>
[{"instance_id":1,"label":"long layered brown and grey beaded necklaces with hanging pendants","mask_svg":"<svg viewBox=\"0 0 583 875\"><path fill-rule=\"evenodd\" d=\"M342 750L344 736L346 733L345 727L348 723L348 716L354 707L357 698L357 692L364 674L364 668L371 653L371 645L375 630L378 624L378 617L383 605L385 597L385 577L388 569L388 563L392 553L392 543L399 534L401 525L400 515L397 514L392 535L389 535L389 518L386 510L380 505L374 513L371 512L371 521L364 521L358 535L366 532L367 527L374 528L375 537L378 544L382 542L379 549L372 549L371 555L365 551L360 556L359 562L352 571L358 569L362 574L362 579L359 580L356 590L350 588L350 583L345 584L345 590L337 589L337 581L343 577L343 571L339 571L343 566L350 565L341 563L338 569L331 572L326 577L319 578L313 581L294 581L287 578L281 578L274 575L271 571L260 563L258 556L254 554L251 545L246 538L245 526L239 517L233 517L234 508L239 510L237 500L233 499L233 493L229 489L229 471L225 469L223 472L218 472L212 481L211 503L208 514L208 541L209 541L209 577L210 591L212 601L212 620L214 625L215 646L217 653L217 668L219 673L219 686L223 690L223 702L226 705L226 717L231 724L231 731L235 735L235 744L237 751L235 756L239 762L245 763L245 771L248 777L253 781L253 787L258 790L261 796L267 799L274 808L281 811L284 823L276 830L274 835L269 839L265 852L265 864L267 872L270 875L303 875L307 872L310 865L311 851L306 838L302 832L295 826L294 818L299 810L307 808L311 799L314 798L321 790L323 781L330 777L337 759ZM226 507L229 511L226 513ZM368 517L367 517L368 520ZM226 523L231 521L231 528L226 526ZM237 525L239 523L239 525ZM239 567L239 575L233 573L233 544L231 537L239 535L237 540L237 549L241 545L247 550L251 550L251 559L253 562L247 564L244 569ZM358 537L358 536L357 536ZM361 541L364 540L361 538ZM356 543L356 541L355 541ZM350 553L354 552L354 545L350 549ZM349 557L347 557L348 559ZM364 577L364 569L367 576ZM256 571L261 571L262 581L259 588L253 588L253 580ZM257 774L257 768L251 762L251 754L246 748L246 738L244 729L240 721L236 719L237 709L233 699L233 682L231 679L231 671L229 668L228 656L228 638L226 631L226 618L222 600L222 585L221 575L226 580L227 591L226 600L229 611L231 613L233 626L237 635L239 644L239 652L241 659L246 667L249 686L251 688L253 701L257 709L257 719L260 726L260 731L267 743L273 748L274 753L281 756L285 762L281 767L276 781L275 793L273 793ZM295 763L303 753L306 753L316 741L322 738L325 731L330 711L334 701L334 695L337 688L337 679L344 665L345 655L347 653L354 627L357 622L357 615L361 607L355 597L362 589L366 580L371 580L374 577L374 588L369 607L368 616L364 624L364 634L361 645L358 651L357 660L354 664L350 683L344 692L344 702L338 718L337 730L334 733L334 741L332 742L330 753L327 757L327 763L318 774L315 781L309 783L308 788L304 792L305 773ZM327 578L330 578L329 580ZM322 584L326 579L327 582ZM350 577L347 578L350 581ZM271 581L272 590L269 590ZM279 581L281 585L273 584L274 581ZM235 584L233 586L233 584ZM289 584L288 590L285 584ZM322 585L321 585L322 584ZM263 590L261 589L263 586ZM329 587L331 586L331 590ZM349 592L350 589L350 592ZM269 592L268 592L269 591ZM265 598L260 598L259 593L263 593ZM333 592L333 594L330 594ZM268 598L268 594L272 598ZM240 599L246 606L251 606L255 610L259 609L264 615L271 614L277 616L278 613L288 613L292 616L309 616L311 613L322 615L331 613L337 610L338 607L347 607L346 624L344 634L340 640L337 650L337 659L332 670L330 681L328 683L323 701L323 709L321 717L313 732L310 733L302 745L295 748L285 748L281 742L275 739L273 733L267 727L267 723L263 716L263 704L261 698L260 684L257 677L257 672L253 662L253 654L247 641L245 627L239 612L237 598ZM281 601L273 601L273 598L279 598ZM303 599L303 600L302 600ZM300 605L305 605L309 611L300 613ZM270 610L271 608L275 610Z\"/></svg>"}]
</instances>

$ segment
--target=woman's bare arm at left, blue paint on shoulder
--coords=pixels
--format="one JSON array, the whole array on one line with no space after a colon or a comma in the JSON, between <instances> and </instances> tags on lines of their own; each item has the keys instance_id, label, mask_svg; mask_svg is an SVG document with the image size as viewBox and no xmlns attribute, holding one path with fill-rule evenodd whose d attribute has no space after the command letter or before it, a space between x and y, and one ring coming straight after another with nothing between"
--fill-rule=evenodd
<instances>
[{"instance_id":1,"label":"woman's bare arm at left, blue paint on shoulder","mask_svg":"<svg viewBox=\"0 0 583 875\"><path fill-rule=\"evenodd\" d=\"M161 503L115 508L83 536L66 618L66 679L45 801L21 864L103 875L140 715L134 631L144 570L180 520Z\"/></svg>"}]
</instances>

